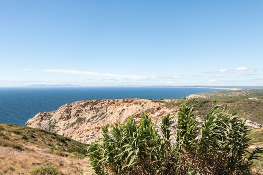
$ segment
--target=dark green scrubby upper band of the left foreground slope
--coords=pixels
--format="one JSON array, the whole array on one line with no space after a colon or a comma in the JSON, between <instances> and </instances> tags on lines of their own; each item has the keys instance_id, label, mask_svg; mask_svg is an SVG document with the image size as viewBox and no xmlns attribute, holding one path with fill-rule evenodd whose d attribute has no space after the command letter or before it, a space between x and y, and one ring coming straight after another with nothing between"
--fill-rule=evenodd
<instances>
[{"instance_id":1,"label":"dark green scrubby upper band of the left foreground slope","mask_svg":"<svg viewBox=\"0 0 263 175\"><path fill-rule=\"evenodd\" d=\"M83 157L87 144L39 128L0 124L0 146L42 150L55 155Z\"/></svg>"}]
</instances>

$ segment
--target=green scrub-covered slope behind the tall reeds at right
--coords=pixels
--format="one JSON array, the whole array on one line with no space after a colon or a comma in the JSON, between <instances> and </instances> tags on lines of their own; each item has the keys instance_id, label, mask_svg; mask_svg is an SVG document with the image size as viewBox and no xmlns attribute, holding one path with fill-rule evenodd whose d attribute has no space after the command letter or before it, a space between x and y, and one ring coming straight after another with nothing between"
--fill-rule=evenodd
<instances>
[{"instance_id":1,"label":"green scrub-covered slope behind the tall reeds at right","mask_svg":"<svg viewBox=\"0 0 263 175\"><path fill-rule=\"evenodd\" d=\"M238 115L246 119L253 120L263 124L263 89L217 91L202 93L203 97L196 97L197 114L205 116L211 109L213 103L218 105L227 105L229 109L235 109ZM168 107L180 106L185 99L158 99L153 100L161 102ZM191 100L189 100L191 102ZM254 146L263 146L263 128L251 129L251 144ZM263 169L263 161L256 161L256 167Z\"/></svg>"}]
</instances>

